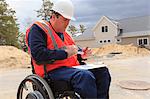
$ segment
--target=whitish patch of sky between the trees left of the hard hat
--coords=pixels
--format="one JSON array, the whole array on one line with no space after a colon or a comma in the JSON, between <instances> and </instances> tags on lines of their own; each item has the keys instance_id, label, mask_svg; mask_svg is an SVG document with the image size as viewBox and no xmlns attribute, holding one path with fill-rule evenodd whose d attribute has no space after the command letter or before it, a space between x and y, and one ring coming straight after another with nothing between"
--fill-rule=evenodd
<instances>
[{"instance_id":1,"label":"whitish patch of sky between the trees left of the hard hat","mask_svg":"<svg viewBox=\"0 0 150 99\"><path fill-rule=\"evenodd\" d=\"M42 0L6 0L10 8L16 11L20 31L25 31L27 19L37 19L35 10L40 9Z\"/></svg>"}]
</instances>

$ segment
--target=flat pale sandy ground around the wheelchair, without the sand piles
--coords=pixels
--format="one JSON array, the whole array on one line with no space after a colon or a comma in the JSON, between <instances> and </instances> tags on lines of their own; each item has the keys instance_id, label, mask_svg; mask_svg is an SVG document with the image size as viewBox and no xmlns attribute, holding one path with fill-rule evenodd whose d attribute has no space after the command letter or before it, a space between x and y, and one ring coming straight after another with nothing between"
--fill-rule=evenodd
<instances>
[{"instance_id":1,"label":"flat pale sandy ground around the wheelchair, without the sand piles","mask_svg":"<svg viewBox=\"0 0 150 99\"><path fill-rule=\"evenodd\" d=\"M123 80L138 80L150 83L150 56L130 57L126 59L103 59L108 65L112 82L110 99L149 99L150 90L128 90L118 83ZM9 69L0 71L0 98L16 99L16 92L21 80L31 74L30 69Z\"/></svg>"}]
</instances>

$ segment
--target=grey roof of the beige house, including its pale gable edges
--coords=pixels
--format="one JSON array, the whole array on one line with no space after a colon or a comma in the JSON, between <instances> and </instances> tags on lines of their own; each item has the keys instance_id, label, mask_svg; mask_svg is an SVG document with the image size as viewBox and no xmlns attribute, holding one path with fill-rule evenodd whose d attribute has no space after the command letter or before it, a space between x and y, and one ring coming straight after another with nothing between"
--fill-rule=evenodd
<instances>
[{"instance_id":1,"label":"grey roof of the beige house, including its pale gable edges","mask_svg":"<svg viewBox=\"0 0 150 99\"><path fill-rule=\"evenodd\" d=\"M99 25L103 18L106 18L114 26L119 26L120 29L123 29L121 37L150 35L150 15L130 17L120 20L113 20L103 16L93 28L87 29L82 35L75 37L74 39L77 41L95 39L94 33L92 31Z\"/></svg>"}]
</instances>

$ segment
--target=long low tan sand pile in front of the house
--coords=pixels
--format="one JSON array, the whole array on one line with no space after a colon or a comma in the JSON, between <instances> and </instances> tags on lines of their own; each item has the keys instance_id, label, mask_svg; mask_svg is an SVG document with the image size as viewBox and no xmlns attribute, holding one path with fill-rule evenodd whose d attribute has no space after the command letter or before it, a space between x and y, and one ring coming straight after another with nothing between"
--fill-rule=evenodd
<instances>
[{"instance_id":1,"label":"long low tan sand pile in front of the house","mask_svg":"<svg viewBox=\"0 0 150 99\"><path fill-rule=\"evenodd\" d=\"M96 56L105 56L112 53L118 53L121 56L150 55L150 51L145 48L139 48L133 45L109 44L100 48L93 48L93 54Z\"/></svg>"}]
</instances>

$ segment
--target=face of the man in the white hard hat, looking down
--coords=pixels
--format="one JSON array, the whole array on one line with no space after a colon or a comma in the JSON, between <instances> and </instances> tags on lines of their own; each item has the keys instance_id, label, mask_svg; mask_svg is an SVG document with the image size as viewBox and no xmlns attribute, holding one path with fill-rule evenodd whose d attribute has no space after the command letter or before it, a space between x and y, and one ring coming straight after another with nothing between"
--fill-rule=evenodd
<instances>
[{"instance_id":1,"label":"face of the man in the white hard hat, looking down","mask_svg":"<svg viewBox=\"0 0 150 99\"><path fill-rule=\"evenodd\" d=\"M57 32L64 32L70 22L70 19L66 19L63 16L58 16L55 18L55 26L57 27Z\"/></svg>"}]
</instances>

